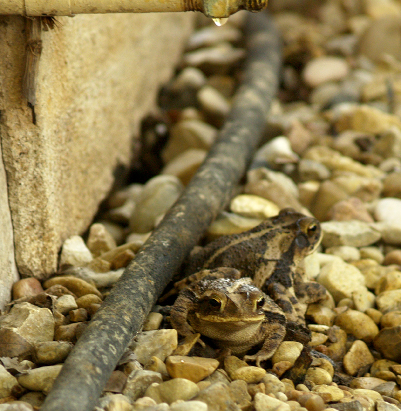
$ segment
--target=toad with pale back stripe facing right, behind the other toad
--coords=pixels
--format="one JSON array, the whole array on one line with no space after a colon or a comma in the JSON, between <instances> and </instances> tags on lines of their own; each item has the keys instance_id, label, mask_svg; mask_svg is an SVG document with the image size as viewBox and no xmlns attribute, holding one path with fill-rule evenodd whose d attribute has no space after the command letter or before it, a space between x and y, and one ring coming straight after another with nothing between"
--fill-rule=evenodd
<instances>
[{"instance_id":1,"label":"toad with pale back stripe facing right, behind the other toad","mask_svg":"<svg viewBox=\"0 0 401 411\"><path fill-rule=\"evenodd\" d=\"M321 300L325 289L306 281L301 262L316 250L321 237L316 219L284 209L252 230L223 236L206 247L195 248L185 273L218 267L240 270L283 310L289 338L306 342L307 305Z\"/></svg>"}]
</instances>

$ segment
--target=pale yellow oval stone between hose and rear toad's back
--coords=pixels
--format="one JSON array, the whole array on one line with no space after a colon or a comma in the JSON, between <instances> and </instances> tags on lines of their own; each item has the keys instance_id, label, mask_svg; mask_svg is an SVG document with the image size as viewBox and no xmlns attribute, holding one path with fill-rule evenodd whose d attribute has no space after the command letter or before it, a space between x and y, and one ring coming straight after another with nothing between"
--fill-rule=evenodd
<instances>
[{"instance_id":1,"label":"pale yellow oval stone between hose and rear toad's back","mask_svg":"<svg viewBox=\"0 0 401 411\"><path fill-rule=\"evenodd\" d=\"M230 210L243 217L267 219L279 214L280 209L272 201L259 195L240 194L230 202Z\"/></svg>"}]
</instances>

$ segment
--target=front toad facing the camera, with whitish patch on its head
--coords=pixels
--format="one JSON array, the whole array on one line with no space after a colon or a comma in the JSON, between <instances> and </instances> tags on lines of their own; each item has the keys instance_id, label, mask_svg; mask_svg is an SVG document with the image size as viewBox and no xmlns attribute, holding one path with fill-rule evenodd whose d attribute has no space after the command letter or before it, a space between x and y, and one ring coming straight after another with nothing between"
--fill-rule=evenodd
<instances>
[{"instance_id":1,"label":"front toad facing the camera, with whitish patch on its head","mask_svg":"<svg viewBox=\"0 0 401 411\"><path fill-rule=\"evenodd\" d=\"M202 270L182 281L182 289L171 307L170 322L178 334L200 333L217 347L244 355L245 360L269 359L286 334L286 317L281 308L251 278L240 271L220 267Z\"/></svg>"}]
</instances>

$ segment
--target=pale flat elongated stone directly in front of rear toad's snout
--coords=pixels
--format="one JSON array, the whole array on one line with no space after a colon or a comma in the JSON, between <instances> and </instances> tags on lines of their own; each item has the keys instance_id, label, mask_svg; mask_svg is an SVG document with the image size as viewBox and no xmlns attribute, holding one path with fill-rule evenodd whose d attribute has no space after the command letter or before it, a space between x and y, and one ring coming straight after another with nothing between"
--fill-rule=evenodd
<instances>
[{"instance_id":1,"label":"pale flat elongated stone directly in front of rear toad's snout","mask_svg":"<svg viewBox=\"0 0 401 411\"><path fill-rule=\"evenodd\" d=\"M367 223L357 220L328 221L321 225L323 231L322 245L365 247L380 239L380 233Z\"/></svg>"}]
</instances>

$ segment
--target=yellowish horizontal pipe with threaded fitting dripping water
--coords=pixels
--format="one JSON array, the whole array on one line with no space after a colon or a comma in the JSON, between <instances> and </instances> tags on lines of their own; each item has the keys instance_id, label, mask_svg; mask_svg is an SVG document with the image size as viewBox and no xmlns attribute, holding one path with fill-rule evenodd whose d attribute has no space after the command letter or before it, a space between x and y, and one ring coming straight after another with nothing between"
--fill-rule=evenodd
<instances>
[{"instance_id":1,"label":"yellowish horizontal pipe with threaded fitting dripping water","mask_svg":"<svg viewBox=\"0 0 401 411\"><path fill-rule=\"evenodd\" d=\"M258 12L268 0L0 0L0 15L74 16L90 13L202 12L214 19Z\"/></svg>"}]
</instances>

